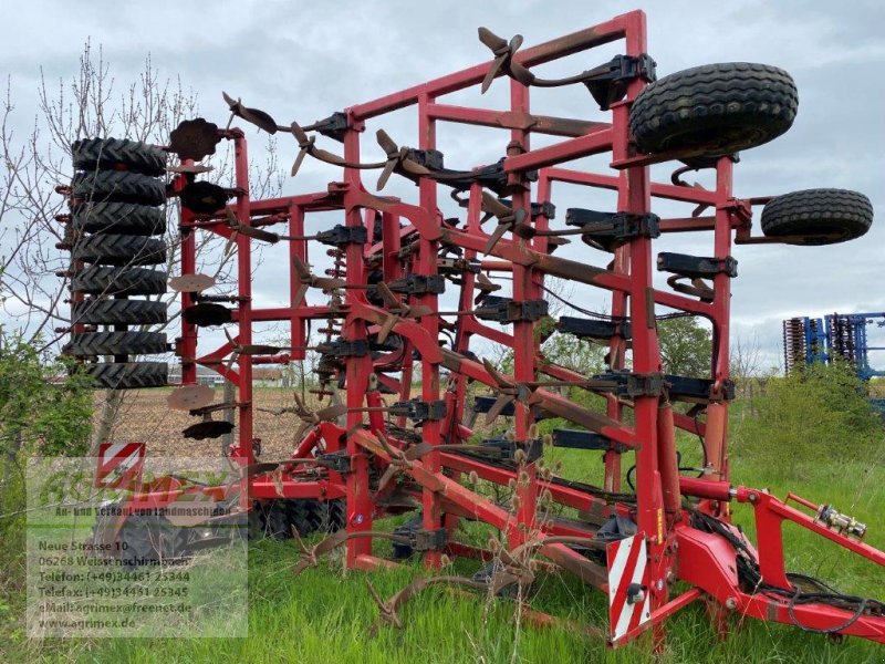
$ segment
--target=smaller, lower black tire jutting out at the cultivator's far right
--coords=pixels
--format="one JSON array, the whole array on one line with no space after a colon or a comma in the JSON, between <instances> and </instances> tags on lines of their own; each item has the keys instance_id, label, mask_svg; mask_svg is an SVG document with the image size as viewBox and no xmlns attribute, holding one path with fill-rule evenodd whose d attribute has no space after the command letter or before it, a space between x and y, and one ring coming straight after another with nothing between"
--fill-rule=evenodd
<instances>
[{"instance_id":1,"label":"smaller, lower black tire jutting out at the cultivator's far right","mask_svg":"<svg viewBox=\"0 0 885 664\"><path fill-rule=\"evenodd\" d=\"M762 208L761 219L768 237L796 236L790 245L845 242L860 238L872 224L873 204L848 189L803 189L778 196Z\"/></svg>"}]
</instances>

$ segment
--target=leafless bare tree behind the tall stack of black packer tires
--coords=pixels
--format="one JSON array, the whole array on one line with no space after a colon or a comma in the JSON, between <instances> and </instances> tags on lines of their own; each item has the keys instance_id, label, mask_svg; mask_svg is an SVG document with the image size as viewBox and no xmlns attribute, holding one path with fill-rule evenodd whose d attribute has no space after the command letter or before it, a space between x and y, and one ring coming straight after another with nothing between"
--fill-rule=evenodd
<instances>
[{"instance_id":1,"label":"leafless bare tree behind the tall stack of black packer tires","mask_svg":"<svg viewBox=\"0 0 885 664\"><path fill-rule=\"evenodd\" d=\"M74 238L56 221L56 216L65 211L65 200L55 188L71 180L72 143L113 136L164 145L183 120L199 114L199 105L197 95L180 79L160 75L149 54L135 80L117 82L101 46L96 52L88 41L80 56L79 71L70 80L50 83L41 70L37 95L34 124L27 135L20 136L11 82L7 82L0 118L4 165L0 176L0 308L3 318L11 320L32 343L58 351L70 324L69 283L60 277L70 268L70 256L56 245L70 246ZM231 148L227 143L221 147L218 155L207 160L215 168L211 179L232 186ZM284 176L277 166L272 138L268 139L266 154L267 160L253 165L250 173L251 194L257 198L278 195L282 188ZM177 199L168 201L166 214L169 220L166 268L174 273L180 255ZM225 251L225 240L201 234L199 242L200 271L222 283L228 281L231 253ZM158 298L171 305L168 326L179 314L175 293ZM54 333L55 328L60 332ZM122 404L122 393L106 394L94 433L95 443L111 437Z\"/></svg>"}]
</instances>

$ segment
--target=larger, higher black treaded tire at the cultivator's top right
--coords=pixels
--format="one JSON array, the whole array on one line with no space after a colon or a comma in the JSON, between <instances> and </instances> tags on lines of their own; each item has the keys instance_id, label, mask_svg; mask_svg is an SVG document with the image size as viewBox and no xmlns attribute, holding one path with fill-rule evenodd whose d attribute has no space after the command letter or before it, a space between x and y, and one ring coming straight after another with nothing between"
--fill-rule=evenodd
<instances>
[{"instance_id":1,"label":"larger, higher black treaded tire at the cultivator's top right","mask_svg":"<svg viewBox=\"0 0 885 664\"><path fill-rule=\"evenodd\" d=\"M629 128L644 153L719 156L777 138L792 126L798 107L795 82L781 69L705 64L643 90L631 107Z\"/></svg>"}]
</instances>

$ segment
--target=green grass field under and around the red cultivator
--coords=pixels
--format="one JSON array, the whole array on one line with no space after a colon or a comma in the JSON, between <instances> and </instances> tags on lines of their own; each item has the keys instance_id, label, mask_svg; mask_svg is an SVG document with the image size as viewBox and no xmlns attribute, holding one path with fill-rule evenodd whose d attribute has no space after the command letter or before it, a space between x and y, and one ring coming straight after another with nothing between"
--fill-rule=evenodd
<instances>
[{"instance_id":1,"label":"green grass field under and around the red cultivator","mask_svg":"<svg viewBox=\"0 0 885 664\"><path fill-rule=\"evenodd\" d=\"M732 417L732 474L736 481L769 487L783 497L793 490L814 501L826 501L870 525L866 541L885 548L885 465L883 446L872 447L845 437L833 443L829 458L821 460L813 448L780 453L752 439L758 435L754 414L738 404ZM809 414L808 418L813 418ZM801 423L800 423L801 424ZM784 425L787 426L787 425ZM800 425L795 425L800 426ZM784 432L780 432L783 434ZM881 433L881 432L879 432ZM794 432L805 435L804 432ZM837 445L835 445L837 443ZM852 446L853 450L852 450ZM680 439L684 464L697 463L693 438ZM872 454L871 454L872 450ZM593 481L601 464L595 453L552 450L562 458L563 475ZM810 460L800 460L809 458ZM736 520L752 533L752 515L738 506ZM393 527L387 523L386 527ZM821 538L787 527L788 563L793 571L814 574L840 590L864 596L885 598L885 574L881 568L848 556ZM465 537L487 537L476 527ZM481 540L480 540L481 541ZM376 544L385 554L388 544ZM580 629L538 629L520 624L519 608L510 600L465 595L433 588L400 611L405 629L382 626L369 637L378 611L367 589L371 581L389 598L416 575L425 574L419 563L366 574L344 572L340 557L323 560L319 568L293 578L298 560L294 542L260 541L249 553L249 637L165 640L46 640L28 641L14 618L18 600L12 598L0 616L6 618L4 639L9 662L304 662L436 664L460 662L650 662L649 642L606 651L597 636ZM477 563L458 561L454 571L470 574ZM568 574L540 575L531 599L533 609L568 618L572 624L605 626L601 593L582 587ZM760 623L732 615L731 634L720 641L714 633L702 604L696 603L673 618L663 662L667 663L876 663L885 662L885 649L848 639L837 644L826 636L806 634L787 625Z\"/></svg>"}]
</instances>

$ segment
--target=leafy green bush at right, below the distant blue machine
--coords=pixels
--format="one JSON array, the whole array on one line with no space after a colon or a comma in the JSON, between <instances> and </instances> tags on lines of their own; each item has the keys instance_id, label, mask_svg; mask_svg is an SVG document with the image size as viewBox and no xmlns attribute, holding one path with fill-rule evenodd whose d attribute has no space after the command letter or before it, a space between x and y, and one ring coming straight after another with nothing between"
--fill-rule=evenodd
<instances>
[{"instance_id":1,"label":"leafy green bush at right, below the distant blue machine","mask_svg":"<svg viewBox=\"0 0 885 664\"><path fill-rule=\"evenodd\" d=\"M735 428L735 453L793 478L819 464L881 464L882 422L866 392L842 362L771 378L766 394L754 400L756 416Z\"/></svg>"}]
</instances>

